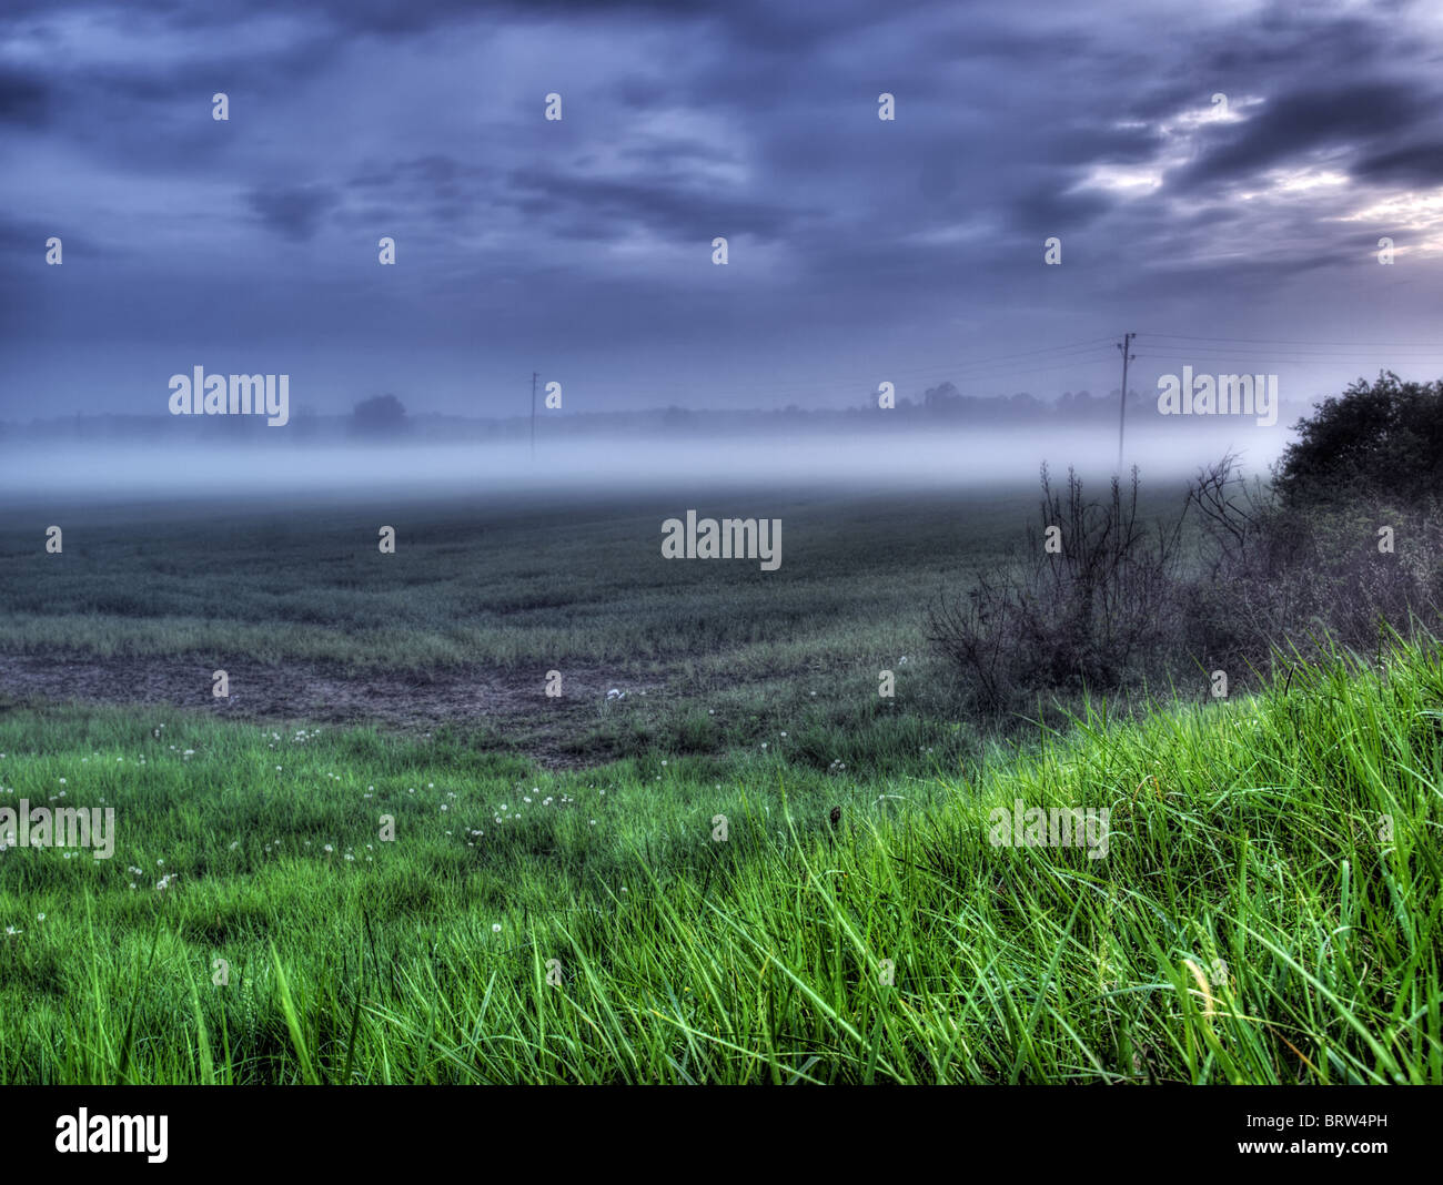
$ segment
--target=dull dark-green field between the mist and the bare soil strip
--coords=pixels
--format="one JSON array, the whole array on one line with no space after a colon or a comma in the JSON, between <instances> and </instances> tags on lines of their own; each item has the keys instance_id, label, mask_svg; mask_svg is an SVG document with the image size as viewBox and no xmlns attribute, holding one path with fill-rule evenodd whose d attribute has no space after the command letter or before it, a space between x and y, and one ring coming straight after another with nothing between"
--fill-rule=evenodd
<instances>
[{"instance_id":1,"label":"dull dark-green field between the mist and the bare soil strip","mask_svg":"<svg viewBox=\"0 0 1443 1185\"><path fill-rule=\"evenodd\" d=\"M685 662L732 680L896 657L944 587L991 562L1035 489L996 494L221 503L48 509L0 529L0 649L240 653L348 669ZM661 522L784 522L784 562L668 562ZM65 528L63 555L43 551ZM397 529L381 555L381 525Z\"/></svg>"}]
</instances>

